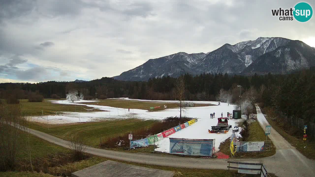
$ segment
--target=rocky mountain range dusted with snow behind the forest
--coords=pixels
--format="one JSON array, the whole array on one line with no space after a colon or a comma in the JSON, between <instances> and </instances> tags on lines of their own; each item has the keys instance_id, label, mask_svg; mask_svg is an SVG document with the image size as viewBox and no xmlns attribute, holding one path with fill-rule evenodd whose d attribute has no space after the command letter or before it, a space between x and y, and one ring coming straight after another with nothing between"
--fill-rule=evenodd
<instances>
[{"instance_id":1,"label":"rocky mountain range dusted with snow behind the forest","mask_svg":"<svg viewBox=\"0 0 315 177\"><path fill-rule=\"evenodd\" d=\"M224 44L208 53L179 52L125 71L117 80L147 80L150 77L178 77L184 73L286 74L315 66L315 48L298 40L258 37L235 45Z\"/></svg>"}]
</instances>

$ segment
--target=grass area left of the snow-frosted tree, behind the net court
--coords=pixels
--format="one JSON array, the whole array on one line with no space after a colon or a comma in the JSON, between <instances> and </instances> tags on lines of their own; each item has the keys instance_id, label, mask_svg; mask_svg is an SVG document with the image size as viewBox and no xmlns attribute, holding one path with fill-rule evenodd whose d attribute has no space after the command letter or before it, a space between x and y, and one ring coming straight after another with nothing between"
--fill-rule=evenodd
<instances>
[{"instance_id":1,"label":"grass area left of the snow-frosted tree, behind the net court","mask_svg":"<svg viewBox=\"0 0 315 177\"><path fill-rule=\"evenodd\" d=\"M44 99L43 102L28 102L27 100L20 100L20 105L22 110L26 112L28 116L41 116L42 110L46 111L71 111L71 112L87 112L85 109L81 109L80 105L64 105L52 103L49 100L53 99ZM87 106L84 106L87 108ZM95 111L100 111L95 109Z\"/></svg>"}]
</instances>

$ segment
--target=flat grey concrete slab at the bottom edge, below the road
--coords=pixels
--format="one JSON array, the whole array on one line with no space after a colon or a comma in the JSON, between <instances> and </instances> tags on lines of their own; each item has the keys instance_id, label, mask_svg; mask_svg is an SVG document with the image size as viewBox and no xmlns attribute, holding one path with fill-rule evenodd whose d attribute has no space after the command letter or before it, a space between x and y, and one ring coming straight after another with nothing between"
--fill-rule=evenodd
<instances>
[{"instance_id":1,"label":"flat grey concrete slab at the bottom edge, below the road","mask_svg":"<svg viewBox=\"0 0 315 177\"><path fill-rule=\"evenodd\" d=\"M72 177L172 177L175 172L107 160L71 174Z\"/></svg>"}]
</instances>

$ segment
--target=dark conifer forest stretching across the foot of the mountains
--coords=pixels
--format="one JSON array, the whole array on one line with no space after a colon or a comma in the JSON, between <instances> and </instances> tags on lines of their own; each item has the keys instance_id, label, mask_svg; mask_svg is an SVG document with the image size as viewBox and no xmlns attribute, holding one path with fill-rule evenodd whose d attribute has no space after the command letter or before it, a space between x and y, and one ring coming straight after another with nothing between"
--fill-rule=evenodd
<instances>
[{"instance_id":1,"label":"dark conifer forest stretching across the foot of the mountains","mask_svg":"<svg viewBox=\"0 0 315 177\"><path fill-rule=\"evenodd\" d=\"M315 68L296 71L287 75L228 75L200 74L183 75L186 81L185 100L218 100L220 90L232 95L229 102L239 100L241 85L242 97L252 89L256 102L271 106L313 122L315 115ZM145 100L173 100L176 78L157 77L148 81L118 81L102 77L88 82L41 82L41 83L0 83L0 98L14 96L27 99L28 95L40 94L44 98L66 98L68 91L76 89L85 99L106 99L129 97ZM97 93L97 94L95 94Z\"/></svg>"}]
</instances>

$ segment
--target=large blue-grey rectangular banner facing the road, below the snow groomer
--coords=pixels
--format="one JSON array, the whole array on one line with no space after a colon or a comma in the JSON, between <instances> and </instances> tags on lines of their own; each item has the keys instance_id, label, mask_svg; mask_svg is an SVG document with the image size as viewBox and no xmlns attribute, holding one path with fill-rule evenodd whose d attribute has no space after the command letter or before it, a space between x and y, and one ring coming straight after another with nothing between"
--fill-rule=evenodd
<instances>
[{"instance_id":1,"label":"large blue-grey rectangular banner facing the road, below the snow groomer","mask_svg":"<svg viewBox=\"0 0 315 177\"><path fill-rule=\"evenodd\" d=\"M169 153L192 156L211 156L214 140L169 138Z\"/></svg>"}]
</instances>

